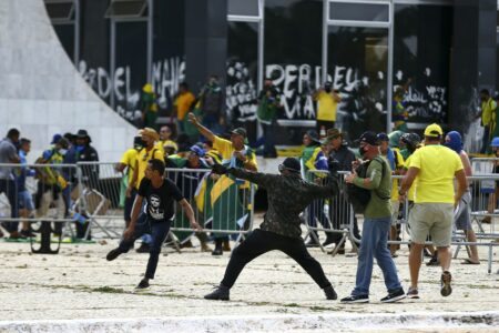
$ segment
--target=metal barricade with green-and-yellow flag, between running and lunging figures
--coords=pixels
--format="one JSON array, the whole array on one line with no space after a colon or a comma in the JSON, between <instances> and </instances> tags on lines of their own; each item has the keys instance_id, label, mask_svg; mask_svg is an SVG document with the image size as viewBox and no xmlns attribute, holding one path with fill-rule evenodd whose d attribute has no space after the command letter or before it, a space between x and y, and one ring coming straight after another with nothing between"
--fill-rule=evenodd
<instances>
[{"instance_id":1,"label":"metal barricade with green-and-yellow flag, between running and lunging figures","mask_svg":"<svg viewBox=\"0 0 499 333\"><path fill-rule=\"evenodd\" d=\"M207 169L166 169L173 181L193 206L202 233L237 234L236 241L253 229L255 186L227 175L211 174ZM180 205L171 228L180 242L193 234L189 220Z\"/></svg>"}]
</instances>

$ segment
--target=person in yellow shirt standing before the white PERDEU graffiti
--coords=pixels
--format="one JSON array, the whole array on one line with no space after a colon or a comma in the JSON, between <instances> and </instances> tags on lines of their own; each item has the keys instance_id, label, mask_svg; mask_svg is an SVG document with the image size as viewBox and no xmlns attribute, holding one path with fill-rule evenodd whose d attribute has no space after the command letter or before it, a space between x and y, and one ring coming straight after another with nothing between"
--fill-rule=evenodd
<instances>
[{"instance_id":1,"label":"person in yellow shirt standing before the white PERDEU graffiti","mask_svg":"<svg viewBox=\"0 0 499 333\"><path fill-rule=\"evenodd\" d=\"M317 133L320 134L320 130L332 129L336 122L336 111L338 103L342 101L342 97L338 94L338 90L333 90L333 83L327 81L324 83L324 89L319 89L314 93L314 100L317 101Z\"/></svg>"}]
</instances>

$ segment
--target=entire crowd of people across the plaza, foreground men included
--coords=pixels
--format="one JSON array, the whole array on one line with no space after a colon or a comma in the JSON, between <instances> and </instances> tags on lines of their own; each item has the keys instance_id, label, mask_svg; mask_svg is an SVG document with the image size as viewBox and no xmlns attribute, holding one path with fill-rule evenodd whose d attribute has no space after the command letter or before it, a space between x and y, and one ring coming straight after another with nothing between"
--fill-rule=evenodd
<instances>
[{"instance_id":1,"label":"entire crowd of people across the plaza, foreground men included","mask_svg":"<svg viewBox=\"0 0 499 333\"><path fill-rule=\"evenodd\" d=\"M264 124L264 138L272 143L275 108L279 102L278 92L272 81L267 81L258 97L258 117ZM159 131L144 127L115 167L126 178L125 232L120 245L106 259L112 261L129 252L141 238L138 252L149 253L150 258L139 289L149 287L150 280L154 279L162 244L174 220L187 222L185 225L194 230L202 251L211 251L213 255L230 251L230 238L224 229L247 229L253 204L248 193L251 183L254 183L267 191L268 210L264 222L236 248L220 286L206 299L228 300L230 290L246 264L267 251L281 250L305 269L328 300L336 300L333 285L307 248L319 246L315 228L320 224L326 230L322 245L335 244L339 254L345 253L342 233L332 231L342 230L350 220L356 242L354 248L358 248L358 266L355 287L349 296L342 299L343 303L369 301L374 259L384 273L388 291L381 302L396 302L406 296L418 299L424 249L428 249L431 256L428 265L441 266L441 295L451 293L452 230L462 230L469 242L477 240L470 221L471 194L466 179L471 175L471 164L458 132L444 133L435 123L425 129L422 139L415 132L401 130L388 134L367 131L357 140L358 159L345 140L345 133L334 127L335 120L322 119L317 122L317 130L304 133L301 157L286 159L278 168L279 174L266 174L257 170L255 151L247 144L245 129L236 128L227 134L218 134L224 132L226 122L221 112L221 91L215 77L210 79L197 98L185 83L181 84L180 91L174 113L176 140L170 125L163 125ZM315 98L319 107L329 111L340 101L328 82ZM489 102L485 103L488 105ZM487 140L491 150L499 154L499 138L490 140L491 144ZM74 193L78 180L74 174L53 164L99 161L90 143L91 138L85 130L79 130L77 134L54 134L50 148L37 159L38 164L51 167L27 168L23 165L30 152L30 140L21 138L18 130L10 130L0 142L0 163L17 163L20 168L0 168L0 191L9 200L11 218L42 218L51 206L57 208L59 218L71 216L72 203L79 195ZM265 150L267 155L275 153L272 144ZM90 168L83 170L81 181L98 183L99 172ZM184 172L179 176L170 174L169 169L205 169L208 172ZM343 181L347 191L348 188L355 189L350 190L355 195L338 195L338 171L347 172ZM397 181L393 175L404 178ZM38 180L34 195L26 186L29 176ZM366 193L365 200L359 199L363 193ZM236 198L236 201L224 199L224 194ZM335 198L334 204L332 198ZM328 210L324 209L326 204L330 205ZM353 210L345 210L350 205L355 213L364 215L361 232L357 216L352 215ZM220 213L227 208L230 214ZM397 221L406 210L410 230L410 285L407 293L393 260L399 245L388 245L388 240L400 241L401 230ZM306 242L302 238L304 220L313 228ZM12 239L33 235L29 223L21 223L20 230L19 222L3 222L2 226ZM203 232L210 228L215 230L212 233L213 250ZM78 236L82 238L85 232L80 225ZM191 234L182 240L184 245L190 244ZM469 254L464 263L480 263L476 245L470 246Z\"/></svg>"}]
</instances>

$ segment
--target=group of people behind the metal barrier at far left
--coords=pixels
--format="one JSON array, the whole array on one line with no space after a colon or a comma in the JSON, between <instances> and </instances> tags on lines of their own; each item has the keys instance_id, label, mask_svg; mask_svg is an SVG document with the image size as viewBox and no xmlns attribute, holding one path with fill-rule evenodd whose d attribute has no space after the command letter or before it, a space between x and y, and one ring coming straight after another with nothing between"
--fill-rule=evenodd
<instances>
[{"instance_id":1,"label":"group of people behind the metal barrier at far left","mask_svg":"<svg viewBox=\"0 0 499 333\"><path fill-rule=\"evenodd\" d=\"M10 215L7 218L16 219L1 223L10 239L33 236L31 224L22 222L19 228L18 221L47 218L50 208L55 208L58 219L71 219L74 215L72 205L79 196L79 179L73 169L54 165L99 161L99 154L91 142L89 133L83 129L75 134L57 133L47 150L35 159L35 164L40 165L30 168L27 165L27 157L31 150L30 139L22 138L17 129L8 131L7 137L0 142L0 163L11 165L0 167L0 193L6 195L10 205ZM81 181L95 183L98 174L92 167L83 168ZM34 194L27 186L29 178L37 180ZM88 223L77 223L77 238L84 238L86 226ZM58 224L55 229L55 234L60 235L62 224ZM2 229L0 236L4 236Z\"/></svg>"}]
</instances>

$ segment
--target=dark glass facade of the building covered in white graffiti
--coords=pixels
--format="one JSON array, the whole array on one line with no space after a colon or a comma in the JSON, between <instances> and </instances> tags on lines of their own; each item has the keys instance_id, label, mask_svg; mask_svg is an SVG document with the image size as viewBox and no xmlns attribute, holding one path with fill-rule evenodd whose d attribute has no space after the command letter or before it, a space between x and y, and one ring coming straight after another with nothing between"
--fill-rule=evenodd
<instances>
[{"instance_id":1,"label":"dark glass facade of the building covered in white graffiti","mask_svg":"<svg viewBox=\"0 0 499 333\"><path fill-rule=\"evenodd\" d=\"M276 143L299 144L303 132L315 128L316 103L312 93L325 81L322 78L324 53L327 80L343 97L337 127L353 139L366 129L385 131L389 121L389 29L366 28L361 22L389 22L389 6L394 6L391 93L404 88L409 129L420 129L434 121L448 122L452 6L406 3L329 2L327 19L335 21L325 30L327 48L323 52L323 0L265 0L263 34L258 32L262 26L256 0L227 1L227 14L236 14L233 20L240 20L227 24L225 91L230 121L233 125L244 124L249 138L256 138L256 95L262 83L258 69L263 68L263 75L272 78L282 92ZM139 109L147 68L157 93L160 115L169 114L172 109L177 85L185 80L189 65L184 57L185 6L184 1L153 1L151 64L147 65L147 17L144 13L143 21L115 22L114 69L106 64L82 71L94 78L91 85L101 98L110 101L113 95L116 111L130 121ZM83 17L89 14L82 12ZM243 14L247 16L247 21ZM349 24L340 26L337 20L348 20ZM355 22L359 22L358 27ZM69 27L58 26L55 31L73 57L74 37ZM81 33L88 34L91 30L90 26L83 27ZM258 63L259 46L263 47L263 63ZM109 59L109 56L101 58ZM91 83L90 79L88 81ZM193 90L197 93L195 88Z\"/></svg>"}]
</instances>

